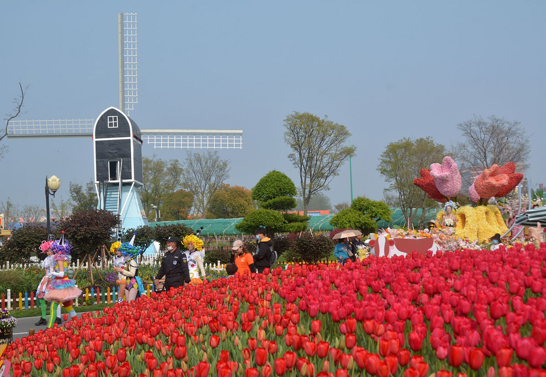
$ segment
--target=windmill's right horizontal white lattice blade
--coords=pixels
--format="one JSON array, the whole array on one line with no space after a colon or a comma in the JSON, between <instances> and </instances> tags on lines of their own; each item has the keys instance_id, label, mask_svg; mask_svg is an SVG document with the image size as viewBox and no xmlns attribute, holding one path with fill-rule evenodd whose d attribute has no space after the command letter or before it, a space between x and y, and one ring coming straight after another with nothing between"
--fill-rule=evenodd
<instances>
[{"instance_id":1,"label":"windmill's right horizontal white lattice blade","mask_svg":"<svg viewBox=\"0 0 546 377\"><path fill-rule=\"evenodd\" d=\"M140 133L154 148L242 149L242 130L144 129Z\"/></svg>"}]
</instances>

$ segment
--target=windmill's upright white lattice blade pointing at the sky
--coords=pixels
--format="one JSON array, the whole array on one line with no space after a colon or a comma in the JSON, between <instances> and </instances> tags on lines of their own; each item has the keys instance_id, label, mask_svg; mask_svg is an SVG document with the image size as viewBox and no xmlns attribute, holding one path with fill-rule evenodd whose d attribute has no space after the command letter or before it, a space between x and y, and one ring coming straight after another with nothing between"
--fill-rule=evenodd
<instances>
[{"instance_id":1,"label":"windmill's upright white lattice blade pointing at the sky","mask_svg":"<svg viewBox=\"0 0 546 377\"><path fill-rule=\"evenodd\" d=\"M120 110L130 115L138 103L136 13L118 14Z\"/></svg>"}]
</instances>

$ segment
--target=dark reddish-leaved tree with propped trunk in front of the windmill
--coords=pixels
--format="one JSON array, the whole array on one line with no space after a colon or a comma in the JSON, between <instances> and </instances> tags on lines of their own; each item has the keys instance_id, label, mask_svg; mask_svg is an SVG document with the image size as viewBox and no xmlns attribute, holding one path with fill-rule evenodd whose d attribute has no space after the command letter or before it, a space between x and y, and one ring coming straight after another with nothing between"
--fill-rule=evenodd
<instances>
[{"instance_id":1,"label":"dark reddish-leaved tree with propped trunk in front of the windmill","mask_svg":"<svg viewBox=\"0 0 546 377\"><path fill-rule=\"evenodd\" d=\"M72 259L80 259L80 263L88 262L87 274L91 282L94 281L92 265L96 255L100 255L106 244L110 246L117 221L117 216L110 211L93 208L91 211L74 212L58 224L58 230L64 231L64 236L73 246L70 252Z\"/></svg>"}]
</instances>

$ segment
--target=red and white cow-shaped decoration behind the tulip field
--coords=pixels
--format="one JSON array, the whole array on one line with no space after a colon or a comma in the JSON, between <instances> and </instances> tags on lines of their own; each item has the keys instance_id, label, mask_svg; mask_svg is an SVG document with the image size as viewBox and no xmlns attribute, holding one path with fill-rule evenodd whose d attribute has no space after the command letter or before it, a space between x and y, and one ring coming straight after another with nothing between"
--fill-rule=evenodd
<instances>
[{"instance_id":1,"label":"red and white cow-shaped decoration behind the tulip field","mask_svg":"<svg viewBox=\"0 0 546 377\"><path fill-rule=\"evenodd\" d=\"M406 256L417 252L419 255L426 255L429 250L432 255L436 254L440 247L432 240L432 238L390 238L389 234L377 235L370 233L370 240L364 242L366 246L370 246L370 254L375 256L387 256L390 258L393 255Z\"/></svg>"}]
</instances>

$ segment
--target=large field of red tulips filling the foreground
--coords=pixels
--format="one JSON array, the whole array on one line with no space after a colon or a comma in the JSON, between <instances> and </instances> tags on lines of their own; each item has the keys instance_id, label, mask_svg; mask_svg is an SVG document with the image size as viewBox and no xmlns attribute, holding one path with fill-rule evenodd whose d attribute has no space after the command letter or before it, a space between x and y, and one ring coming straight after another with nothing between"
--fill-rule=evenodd
<instances>
[{"instance_id":1,"label":"large field of red tulips filling the foreground","mask_svg":"<svg viewBox=\"0 0 546 377\"><path fill-rule=\"evenodd\" d=\"M13 376L546 376L546 244L295 265L84 314Z\"/></svg>"}]
</instances>

